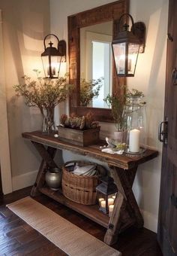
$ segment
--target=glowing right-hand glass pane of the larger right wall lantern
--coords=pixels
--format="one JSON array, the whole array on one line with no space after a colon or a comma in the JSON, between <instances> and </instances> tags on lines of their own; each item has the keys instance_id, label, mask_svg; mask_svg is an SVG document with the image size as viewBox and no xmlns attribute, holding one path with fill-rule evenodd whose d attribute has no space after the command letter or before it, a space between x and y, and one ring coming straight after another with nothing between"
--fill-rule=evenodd
<instances>
[{"instance_id":1,"label":"glowing right-hand glass pane of the larger right wall lantern","mask_svg":"<svg viewBox=\"0 0 177 256\"><path fill-rule=\"evenodd\" d=\"M128 75L134 75L138 53L139 53L139 44L132 44L132 43L128 44L128 56L127 56Z\"/></svg>"}]
</instances>

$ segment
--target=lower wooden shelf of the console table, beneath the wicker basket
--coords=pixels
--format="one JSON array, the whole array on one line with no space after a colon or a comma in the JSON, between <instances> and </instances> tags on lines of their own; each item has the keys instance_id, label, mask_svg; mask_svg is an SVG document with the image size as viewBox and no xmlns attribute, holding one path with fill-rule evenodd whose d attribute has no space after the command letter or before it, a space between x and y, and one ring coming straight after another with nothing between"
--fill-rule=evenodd
<instances>
[{"instance_id":1,"label":"lower wooden shelf of the console table, beneath the wicker basket","mask_svg":"<svg viewBox=\"0 0 177 256\"><path fill-rule=\"evenodd\" d=\"M108 227L110 218L109 216L104 215L104 213L99 211L98 205L85 206L80 203L75 203L66 198L62 194L62 191L54 191L49 189L49 187L40 187L38 189L42 194L45 194L47 197L51 197L58 203L62 203L63 205L68 206L69 208L73 209L76 212L79 212L80 214L86 216L87 218L90 218L92 221L95 221L96 223L100 224L103 227Z\"/></svg>"}]
</instances>

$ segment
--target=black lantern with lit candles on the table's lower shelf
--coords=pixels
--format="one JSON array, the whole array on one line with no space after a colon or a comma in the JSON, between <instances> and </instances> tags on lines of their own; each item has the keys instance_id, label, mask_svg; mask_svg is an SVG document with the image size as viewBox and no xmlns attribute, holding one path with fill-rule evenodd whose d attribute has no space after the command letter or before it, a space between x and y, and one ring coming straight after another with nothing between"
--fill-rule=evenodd
<instances>
[{"instance_id":1,"label":"black lantern with lit candles on the table's lower shelf","mask_svg":"<svg viewBox=\"0 0 177 256\"><path fill-rule=\"evenodd\" d=\"M100 211L104 214L111 215L113 212L114 201L116 193L118 192L117 186L114 184L113 178L106 176L101 178L102 183L96 187L98 193L98 203Z\"/></svg>"}]
</instances>

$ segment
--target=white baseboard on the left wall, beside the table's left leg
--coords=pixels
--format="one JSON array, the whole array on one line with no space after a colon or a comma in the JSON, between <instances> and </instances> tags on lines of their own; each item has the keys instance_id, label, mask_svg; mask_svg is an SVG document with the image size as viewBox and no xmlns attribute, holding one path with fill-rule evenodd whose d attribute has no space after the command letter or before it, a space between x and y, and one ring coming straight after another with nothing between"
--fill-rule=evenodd
<instances>
[{"instance_id":1,"label":"white baseboard on the left wall, beside the table's left leg","mask_svg":"<svg viewBox=\"0 0 177 256\"><path fill-rule=\"evenodd\" d=\"M34 184L36 175L37 175L37 170L32 171L32 172L26 172L21 175L13 176L12 177L12 188L13 191L22 189L24 187L31 186Z\"/></svg>"}]
</instances>

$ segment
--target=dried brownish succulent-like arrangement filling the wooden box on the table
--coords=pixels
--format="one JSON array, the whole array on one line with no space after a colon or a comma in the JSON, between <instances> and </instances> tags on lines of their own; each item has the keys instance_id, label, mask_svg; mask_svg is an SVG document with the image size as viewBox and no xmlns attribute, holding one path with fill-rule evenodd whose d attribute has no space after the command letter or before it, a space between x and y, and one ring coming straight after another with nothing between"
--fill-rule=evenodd
<instances>
[{"instance_id":1,"label":"dried brownish succulent-like arrangement filling the wooden box on the table","mask_svg":"<svg viewBox=\"0 0 177 256\"><path fill-rule=\"evenodd\" d=\"M77 130L89 130L99 126L99 123L94 120L94 116L91 112L83 117L77 117L74 114L71 114L71 117L68 117L68 115L62 114L60 122L60 126Z\"/></svg>"}]
</instances>

